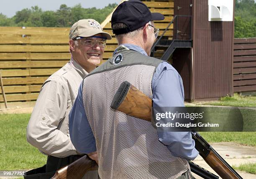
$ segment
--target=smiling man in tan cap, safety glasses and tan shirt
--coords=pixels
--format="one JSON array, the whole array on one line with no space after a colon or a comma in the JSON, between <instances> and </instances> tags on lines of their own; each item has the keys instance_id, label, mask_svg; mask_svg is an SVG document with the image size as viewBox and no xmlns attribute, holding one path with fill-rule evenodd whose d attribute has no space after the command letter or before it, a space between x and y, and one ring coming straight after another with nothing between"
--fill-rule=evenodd
<instances>
[{"instance_id":1,"label":"smiling man in tan cap, safety glasses and tan shirt","mask_svg":"<svg viewBox=\"0 0 256 179\"><path fill-rule=\"evenodd\" d=\"M69 112L82 79L100 64L106 40L111 38L93 19L79 20L71 27L71 59L44 82L27 126L27 141L48 156L47 163L28 171L27 178L50 178L56 170L82 156L69 137ZM97 171L85 176L98 178Z\"/></svg>"}]
</instances>

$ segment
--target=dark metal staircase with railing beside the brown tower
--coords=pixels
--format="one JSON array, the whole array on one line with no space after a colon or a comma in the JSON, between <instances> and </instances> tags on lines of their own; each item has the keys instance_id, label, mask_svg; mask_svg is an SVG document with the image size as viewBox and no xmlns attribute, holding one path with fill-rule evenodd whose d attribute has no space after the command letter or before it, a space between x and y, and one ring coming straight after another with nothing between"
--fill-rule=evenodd
<instances>
[{"instance_id":1,"label":"dark metal staircase with railing beside the brown tower","mask_svg":"<svg viewBox=\"0 0 256 179\"><path fill-rule=\"evenodd\" d=\"M151 56L154 56L158 59L167 61L170 58L170 56L173 54L173 52L176 48L191 48L192 47L191 35L190 35L190 39L186 39L186 40L178 39L178 33L179 33L178 30L176 30L176 36L173 40L163 39L164 33L168 30L169 26L171 26L171 24L174 23L174 20L176 20L176 28L177 28L177 19L180 16L181 17L191 17L189 15L175 15L174 18L172 19L172 21L165 28L162 35L152 46Z\"/></svg>"}]
</instances>

